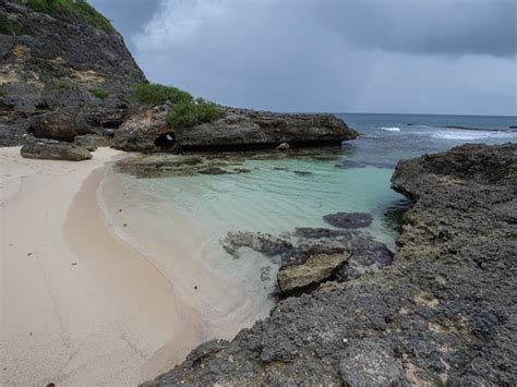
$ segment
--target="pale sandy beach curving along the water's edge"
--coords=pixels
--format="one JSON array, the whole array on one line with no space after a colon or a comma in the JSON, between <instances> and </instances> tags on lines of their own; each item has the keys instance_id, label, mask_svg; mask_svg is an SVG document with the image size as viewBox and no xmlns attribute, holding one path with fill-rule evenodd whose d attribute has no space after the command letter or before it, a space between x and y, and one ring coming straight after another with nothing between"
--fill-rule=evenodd
<instances>
[{"instance_id":1,"label":"pale sandy beach curving along the water's edge","mask_svg":"<svg viewBox=\"0 0 517 387\"><path fill-rule=\"evenodd\" d=\"M205 338L171 281L109 231L96 192L118 154L0 149L1 385L135 385Z\"/></svg>"}]
</instances>

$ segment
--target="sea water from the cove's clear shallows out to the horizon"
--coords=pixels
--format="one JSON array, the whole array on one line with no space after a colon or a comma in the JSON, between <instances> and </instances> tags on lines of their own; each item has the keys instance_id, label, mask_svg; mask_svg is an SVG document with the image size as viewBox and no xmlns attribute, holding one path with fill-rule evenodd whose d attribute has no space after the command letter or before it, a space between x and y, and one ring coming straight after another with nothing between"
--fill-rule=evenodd
<instances>
[{"instance_id":1,"label":"sea water from the cove's clear shallows out to the horizon","mask_svg":"<svg viewBox=\"0 0 517 387\"><path fill-rule=\"evenodd\" d=\"M172 258L178 249L181 265L201 263L224 283L197 300L206 324L214 326L207 337L223 337L217 329L229 313L245 316L239 324L249 326L274 305L278 263L248 249L238 259L230 256L220 244L228 232L282 235L296 227L332 228L323 219L327 214L369 213L374 220L363 231L395 251L398 230L386 214L405 203L389 183L399 159L464 143L517 141L517 130L509 128L517 125L516 117L337 116L361 136L342 147L288 157L276 152L221 159L225 169L247 173L136 178L117 169L107 172L99 196L119 237L149 256L180 291L191 283ZM184 293L192 298L199 292ZM221 293L225 307L218 301Z\"/></svg>"}]
</instances>

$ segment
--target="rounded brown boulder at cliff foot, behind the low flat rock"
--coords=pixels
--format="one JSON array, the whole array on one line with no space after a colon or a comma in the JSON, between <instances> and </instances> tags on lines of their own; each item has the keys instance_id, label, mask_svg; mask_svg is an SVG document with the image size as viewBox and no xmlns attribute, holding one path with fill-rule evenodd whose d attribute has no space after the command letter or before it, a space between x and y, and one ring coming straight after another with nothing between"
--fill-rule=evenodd
<instances>
[{"instance_id":1,"label":"rounded brown boulder at cliff foot, behind the low flat rock","mask_svg":"<svg viewBox=\"0 0 517 387\"><path fill-rule=\"evenodd\" d=\"M60 109L31 119L28 130L35 137L73 142L75 136L100 134L100 126L92 125L86 117L76 111Z\"/></svg>"}]
</instances>

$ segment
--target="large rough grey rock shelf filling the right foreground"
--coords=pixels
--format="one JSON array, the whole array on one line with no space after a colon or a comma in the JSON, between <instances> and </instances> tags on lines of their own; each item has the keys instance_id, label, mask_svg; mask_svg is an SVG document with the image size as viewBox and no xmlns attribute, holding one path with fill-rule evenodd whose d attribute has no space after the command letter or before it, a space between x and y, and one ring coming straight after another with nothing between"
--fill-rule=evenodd
<instances>
[{"instance_id":1,"label":"large rough grey rock shelf filling the right foreground","mask_svg":"<svg viewBox=\"0 0 517 387\"><path fill-rule=\"evenodd\" d=\"M401 161L392 182L416 202L393 265L288 297L147 385L516 385L517 145Z\"/></svg>"}]
</instances>

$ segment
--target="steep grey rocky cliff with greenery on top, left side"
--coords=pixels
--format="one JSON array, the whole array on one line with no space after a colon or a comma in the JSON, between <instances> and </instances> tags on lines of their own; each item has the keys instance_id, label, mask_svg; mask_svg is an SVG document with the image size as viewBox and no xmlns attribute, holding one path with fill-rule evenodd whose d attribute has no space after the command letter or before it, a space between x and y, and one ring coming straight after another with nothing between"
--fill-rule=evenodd
<instances>
[{"instance_id":1,"label":"steep grey rocky cliff with greenery on top, left side","mask_svg":"<svg viewBox=\"0 0 517 387\"><path fill-rule=\"evenodd\" d=\"M53 136L65 141L118 128L143 82L120 34L85 1L0 0L0 145L21 144L33 126L41 137L69 131Z\"/></svg>"}]
</instances>

